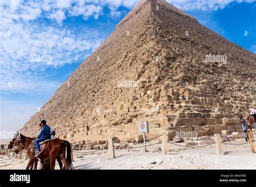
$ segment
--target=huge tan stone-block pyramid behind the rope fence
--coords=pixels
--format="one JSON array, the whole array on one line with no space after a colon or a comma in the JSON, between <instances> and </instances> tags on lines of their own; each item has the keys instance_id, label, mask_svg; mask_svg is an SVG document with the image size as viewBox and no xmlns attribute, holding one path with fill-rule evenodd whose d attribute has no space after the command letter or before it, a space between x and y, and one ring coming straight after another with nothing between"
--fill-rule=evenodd
<instances>
[{"instance_id":1,"label":"huge tan stone-block pyramid behind the rope fence","mask_svg":"<svg viewBox=\"0 0 256 187\"><path fill-rule=\"evenodd\" d=\"M35 136L42 119L71 142L132 139L139 121L147 138L240 131L236 115L256 106L255 66L253 53L185 12L142 0L21 132Z\"/></svg>"}]
</instances>

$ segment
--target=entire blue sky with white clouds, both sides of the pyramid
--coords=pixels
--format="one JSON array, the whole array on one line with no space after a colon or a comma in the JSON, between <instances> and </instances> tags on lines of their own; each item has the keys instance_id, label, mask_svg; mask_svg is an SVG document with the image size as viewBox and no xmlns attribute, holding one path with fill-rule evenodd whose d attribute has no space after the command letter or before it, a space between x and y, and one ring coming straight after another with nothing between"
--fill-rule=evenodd
<instances>
[{"instance_id":1,"label":"entire blue sky with white clouds, both sides of the pyramid","mask_svg":"<svg viewBox=\"0 0 256 187\"><path fill-rule=\"evenodd\" d=\"M0 0L0 130L21 128L137 2ZM256 53L255 0L168 2Z\"/></svg>"}]
</instances>

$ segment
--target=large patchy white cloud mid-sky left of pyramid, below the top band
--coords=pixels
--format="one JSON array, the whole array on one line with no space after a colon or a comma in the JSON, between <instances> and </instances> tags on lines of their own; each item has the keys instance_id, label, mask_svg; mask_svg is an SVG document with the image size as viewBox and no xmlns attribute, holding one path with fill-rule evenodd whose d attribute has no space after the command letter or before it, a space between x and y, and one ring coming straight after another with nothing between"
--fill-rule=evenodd
<instances>
[{"instance_id":1,"label":"large patchy white cloud mid-sky left of pyramid, below the top band","mask_svg":"<svg viewBox=\"0 0 256 187\"><path fill-rule=\"evenodd\" d=\"M5 24L4 19L0 19L0 27L0 90L3 91L36 88L30 83L32 76L50 66L60 67L65 63L82 61L104 40L97 31L90 29L86 33L77 33L21 21ZM43 57L42 60L31 61L35 54ZM26 80L28 76L31 78L29 81ZM13 83L12 87L7 86L9 82Z\"/></svg>"}]
</instances>

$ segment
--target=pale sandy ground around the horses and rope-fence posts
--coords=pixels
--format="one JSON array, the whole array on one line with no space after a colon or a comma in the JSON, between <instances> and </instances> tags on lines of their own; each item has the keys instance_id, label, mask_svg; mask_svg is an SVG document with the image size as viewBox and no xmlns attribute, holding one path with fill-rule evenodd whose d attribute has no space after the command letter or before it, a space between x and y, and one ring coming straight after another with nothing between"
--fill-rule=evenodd
<instances>
[{"instance_id":1,"label":"pale sandy ground around the horses and rope-fence posts","mask_svg":"<svg viewBox=\"0 0 256 187\"><path fill-rule=\"evenodd\" d=\"M156 151L158 147L161 148L161 145L148 147L147 153L143 148L132 148L130 152L115 149L115 159L107 159L107 149L94 153L90 152L95 150L77 150L73 153L73 166L75 169L256 169L256 154L251 152L250 144L223 145L225 155L215 155L215 145L185 148L170 144L169 155ZM27 163L28 160L0 156L0 169L25 169ZM59 169L57 163L56 169Z\"/></svg>"}]
</instances>

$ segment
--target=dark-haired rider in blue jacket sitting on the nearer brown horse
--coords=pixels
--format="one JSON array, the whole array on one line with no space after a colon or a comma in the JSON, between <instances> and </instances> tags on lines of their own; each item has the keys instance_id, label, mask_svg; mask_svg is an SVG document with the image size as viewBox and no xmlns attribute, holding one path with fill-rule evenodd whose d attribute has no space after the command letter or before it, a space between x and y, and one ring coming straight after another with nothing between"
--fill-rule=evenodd
<instances>
[{"instance_id":1,"label":"dark-haired rider in blue jacket sitting on the nearer brown horse","mask_svg":"<svg viewBox=\"0 0 256 187\"><path fill-rule=\"evenodd\" d=\"M42 128L41 132L39 133L39 135L37 136L38 139L35 141L36 148L37 148L37 153L35 156L38 156L39 154L41 154L39 142L42 142L46 139L51 138L51 128L48 125L46 125L46 121L42 120L41 125L43 128Z\"/></svg>"}]
</instances>

